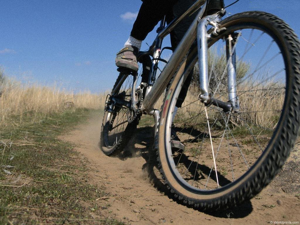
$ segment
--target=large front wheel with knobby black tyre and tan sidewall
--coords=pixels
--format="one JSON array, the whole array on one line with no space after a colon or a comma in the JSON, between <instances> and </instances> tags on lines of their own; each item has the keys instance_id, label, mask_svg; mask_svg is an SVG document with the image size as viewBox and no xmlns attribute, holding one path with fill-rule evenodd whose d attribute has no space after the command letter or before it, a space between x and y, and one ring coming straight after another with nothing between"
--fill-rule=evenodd
<instances>
[{"instance_id":1,"label":"large front wheel with knobby black tyre and tan sidewall","mask_svg":"<svg viewBox=\"0 0 300 225\"><path fill-rule=\"evenodd\" d=\"M202 210L225 209L259 193L289 156L300 121L300 43L292 29L258 11L230 16L220 27L226 30L208 43L210 94L230 100L226 39L234 37L240 110L204 105L195 77L176 110L182 84L197 62L197 49L191 49L184 73L173 78L166 94L156 137L171 193ZM172 122L184 150L171 148Z\"/></svg>"}]
</instances>

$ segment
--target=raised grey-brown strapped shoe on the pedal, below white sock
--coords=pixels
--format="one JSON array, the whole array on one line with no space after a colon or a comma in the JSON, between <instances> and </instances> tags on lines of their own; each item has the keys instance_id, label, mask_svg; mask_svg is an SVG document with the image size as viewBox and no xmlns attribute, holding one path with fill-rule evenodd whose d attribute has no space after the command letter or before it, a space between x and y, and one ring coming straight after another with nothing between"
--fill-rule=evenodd
<instances>
[{"instance_id":1,"label":"raised grey-brown strapped shoe on the pedal, below white sock","mask_svg":"<svg viewBox=\"0 0 300 225\"><path fill-rule=\"evenodd\" d=\"M138 52L139 49L137 47L131 45L125 46L117 53L116 66L128 68L136 72L139 70L136 56Z\"/></svg>"}]
</instances>

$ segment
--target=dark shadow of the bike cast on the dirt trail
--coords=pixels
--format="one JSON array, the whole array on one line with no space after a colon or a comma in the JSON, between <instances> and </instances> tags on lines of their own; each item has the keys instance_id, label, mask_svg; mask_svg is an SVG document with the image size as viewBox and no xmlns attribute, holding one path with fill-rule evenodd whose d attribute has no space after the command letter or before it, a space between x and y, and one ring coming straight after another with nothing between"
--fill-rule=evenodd
<instances>
[{"instance_id":1,"label":"dark shadow of the bike cast on the dirt trail","mask_svg":"<svg viewBox=\"0 0 300 225\"><path fill-rule=\"evenodd\" d=\"M141 127L137 128L135 133L133 134L131 141L129 141L128 145L125 147L124 151L118 155L120 160L126 160L127 158L135 158L135 157L143 157L146 161L143 164L142 170L146 172L148 178L153 185L159 192L164 192L170 199L172 198L172 194L167 189L167 186L163 183L163 179L161 178L161 174L159 173L158 169L158 162L156 152L153 149L154 143L154 132L153 127ZM187 159L186 159L187 162ZM210 168L205 165L198 165L201 167L202 173L209 173ZM218 174L218 177L222 177ZM214 179L214 177L212 177ZM221 185L227 184L228 181L223 177L220 180ZM178 199L173 199L178 204L182 204L182 202ZM192 208L192 207L189 207ZM194 209L196 210L196 209ZM201 211L201 210L197 210ZM205 214L220 217L220 218L243 218L249 215L253 211L253 206L250 200L244 202L237 207L229 208L223 211L216 211L216 212L204 212ZM203 211L201 211L203 212Z\"/></svg>"}]
</instances>

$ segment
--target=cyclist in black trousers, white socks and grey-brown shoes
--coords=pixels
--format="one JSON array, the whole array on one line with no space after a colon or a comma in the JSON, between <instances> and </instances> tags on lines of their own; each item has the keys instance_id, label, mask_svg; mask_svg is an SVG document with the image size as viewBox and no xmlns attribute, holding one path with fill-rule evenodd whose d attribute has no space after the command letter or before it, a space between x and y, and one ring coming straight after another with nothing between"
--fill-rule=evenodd
<instances>
[{"instance_id":1,"label":"cyclist in black trousers, white socks and grey-brown shoes","mask_svg":"<svg viewBox=\"0 0 300 225\"><path fill-rule=\"evenodd\" d=\"M134 22L131 34L125 42L124 48L117 53L116 65L118 67L126 67L133 71L138 70L136 54L140 51L142 41L145 40L149 32L151 32L157 23L166 15L167 23L171 22L177 16L184 13L196 0L142 0L143 4ZM177 45L183 38L190 24L193 22L197 12L183 19L175 29L170 33L172 49L176 49ZM192 73L188 76L176 107L181 107L182 102L187 94L187 89L192 78ZM175 110L177 110L176 108ZM175 115L175 113L174 113ZM176 136L176 131L171 130L172 144L176 148L184 148Z\"/></svg>"}]
</instances>

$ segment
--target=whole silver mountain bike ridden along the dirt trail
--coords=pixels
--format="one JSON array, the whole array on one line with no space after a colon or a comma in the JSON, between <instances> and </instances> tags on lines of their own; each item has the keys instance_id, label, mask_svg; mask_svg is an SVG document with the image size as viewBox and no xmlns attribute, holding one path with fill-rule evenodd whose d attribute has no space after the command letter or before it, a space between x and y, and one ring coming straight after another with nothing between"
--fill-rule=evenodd
<instances>
[{"instance_id":1,"label":"whole silver mountain bike ridden along the dirt trail","mask_svg":"<svg viewBox=\"0 0 300 225\"><path fill-rule=\"evenodd\" d=\"M182 204L210 211L240 204L269 184L295 144L300 121L298 37L269 13L225 18L223 5L214 8L220 2L198 0L167 26L161 21L149 50L137 56L140 72L119 70L100 141L105 154L120 151L141 115L153 115L154 150L167 188ZM165 60L161 52L170 48L161 48L162 40L196 10ZM161 110L154 109L165 90ZM171 146L172 129L184 148Z\"/></svg>"}]
</instances>

